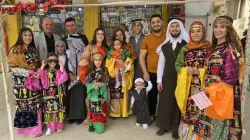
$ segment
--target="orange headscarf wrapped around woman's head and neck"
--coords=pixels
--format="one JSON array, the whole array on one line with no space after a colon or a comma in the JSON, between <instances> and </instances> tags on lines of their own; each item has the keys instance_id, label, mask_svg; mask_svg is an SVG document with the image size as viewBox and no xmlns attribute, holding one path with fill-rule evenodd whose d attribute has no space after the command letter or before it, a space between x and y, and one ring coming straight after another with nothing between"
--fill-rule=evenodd
<instances>
[{"instance_id":1,"label":"orange headscarf wrapped around woman's head and neck","mask_svg":"<svg viewBox=\"0 0 250 140\"><path fill-rule=\"evenodd\" d=\"M191 31L193 28L200 28L203 32L203 37L199 42L194 42L192 37L191 37ZM211 43L206 40L206 32L205 32L205 27L200 21L195 21L191 24L190 29L189 29L189 37L190 41L187 44L187 47L189 49L198 49L198 48L208 48L211 47Z\"/></svg>"}]
</instances>

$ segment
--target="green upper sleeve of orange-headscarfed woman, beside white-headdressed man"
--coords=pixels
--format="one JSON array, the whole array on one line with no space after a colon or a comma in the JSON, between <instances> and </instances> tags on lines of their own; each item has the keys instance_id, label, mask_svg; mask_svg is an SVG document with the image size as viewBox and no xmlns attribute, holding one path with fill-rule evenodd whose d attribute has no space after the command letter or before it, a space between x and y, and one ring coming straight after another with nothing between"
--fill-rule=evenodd
<instances>
[{"instance_id":1,"label":"green upper sleeve of orange-headscarfed woman, beside white-headdressed man","mask_svg":"<svg viewBox=\"0 0 250 140\"><path fill-rule=\"evenodd\" d=\"M178 54L178 57L176 59L176 62L175 62L176 72L180 72L180 70L184 67L185 54L186 54L187 51L188 51L188 48L186 46L181 48L181 50L180 50L180 52Z\"/></svg>"}]
</instances>

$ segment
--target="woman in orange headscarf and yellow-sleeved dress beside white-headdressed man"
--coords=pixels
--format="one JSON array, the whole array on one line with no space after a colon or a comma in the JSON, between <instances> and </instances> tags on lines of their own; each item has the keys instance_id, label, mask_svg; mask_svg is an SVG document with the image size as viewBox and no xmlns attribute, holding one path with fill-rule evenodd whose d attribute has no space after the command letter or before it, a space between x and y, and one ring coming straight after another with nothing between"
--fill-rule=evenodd
<instances>
[{"instance_id":1,"label":"woman in orange headscarf and yellow-sleeved dress beside white-headdressed man","mask_svg":"<svg viewBox=\"0 0 250 140\"><path fill-rule=\"evenodd\" d=\"M211 49L210 42L206 40L205 27L202 22L193 22L189 29L189 35L190 41L185 47L182 47L175 63L178 72L175 95L182 113L179 136L183 140L196 138L192 130L199 108L190 97L200 92L205 86L204 76ZM183 97L185 100L182 100Z\"/></svg>"}]
</instances>

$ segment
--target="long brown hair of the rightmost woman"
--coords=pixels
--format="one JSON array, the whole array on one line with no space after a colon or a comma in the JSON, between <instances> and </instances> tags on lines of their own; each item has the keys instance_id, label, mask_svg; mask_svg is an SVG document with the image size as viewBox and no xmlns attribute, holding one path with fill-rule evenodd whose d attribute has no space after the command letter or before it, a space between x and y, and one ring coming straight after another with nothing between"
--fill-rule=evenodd
<instances>
[{"instance_id":1,"label":"long brown hair of the rightmost woman","mask_svg":"<svg viewBox=\"0 0 250 140\"><path fill-rule=\"evenodd\" d=\"M229 17L229 16L219 16L219 17L217 17L217 18L225 18L225 19L229 20L230 22L232 22L232 24L233 24L233 19L232 19L231 17ZM216 18L216 19L217 19L217 18ZM216 19L215 19L215 20L216 20ZM233 33L233 29L230 28L230 27L228 27L228 26L226 26L226 28L227 28L226 42L227 42L227 43L231 43L231 44L235 47L235 49L236 49L238 52L241 52L241 51L240 51L240 46L238 46L236 37L235 37L235 35L234 35L234 33ZM213 33L213 37L212 37L212 49L213 49L213 50L214 50L215 47L217 46L217 42L218 42L218 40L216 39L216 37L215 37L215 35L214 35L214 33Z\"/></svg>"}]
</instances>

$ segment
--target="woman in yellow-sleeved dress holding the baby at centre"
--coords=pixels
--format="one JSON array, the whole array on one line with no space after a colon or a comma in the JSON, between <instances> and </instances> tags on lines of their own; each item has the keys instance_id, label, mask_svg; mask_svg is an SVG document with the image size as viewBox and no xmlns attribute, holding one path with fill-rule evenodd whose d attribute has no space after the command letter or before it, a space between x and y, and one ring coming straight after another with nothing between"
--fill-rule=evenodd
<instances>
[{"instance_id":1,"label":"woman in yellow-sleeved dress holding the baby at centre","mask_svg":"<svg viewBox=\"0 0 250 140\"><path fill-rule=\"evenodd\" d=\"M136 52L134 48L126 43L126 37L124 32L121 29L117 29L113 35L113 41L116 39L122 42L122 49L127 51L131 55L131 63L137 59ZM125 62L122 59L115 59L115 63L119 63L122 66L125 66ZM129 62L128 62L129 63ZM112 68L112 67L108 67ZM128 117L131 114L130 103L128 97L128 90L132 87L134 77L134 68L133 65L130 67L130 70L126 72L124 76L126 81L126 86L115 88L116 80L115 78L110 79L109 88L110 88L110 117L115 119L117 117ZM122 77L120 76L120 82L122 83Z\"/></svg>"}]
</instances>

